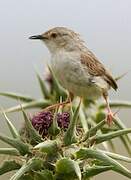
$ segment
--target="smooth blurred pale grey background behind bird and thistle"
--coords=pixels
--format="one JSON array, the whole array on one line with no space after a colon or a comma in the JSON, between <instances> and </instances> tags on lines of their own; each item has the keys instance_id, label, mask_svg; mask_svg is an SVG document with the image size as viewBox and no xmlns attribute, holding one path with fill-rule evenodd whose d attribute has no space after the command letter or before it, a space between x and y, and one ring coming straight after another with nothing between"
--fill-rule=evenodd
<instances>
[{"instance_id":1,"label":"smooth blurred pale grey background behind bird and thistle","mask_svg":"<svg viewBox=\"0 0 131 180\"><path fill-rule=\"evenodd\" d=\"M119 81L118 92L110 93L112 99L131 100L130 0L0 0L0 92L40 96L34 67L44 74L50 56L43 44L30 41L28 37L54 26L66 26L79 32L114 76L129 71ZM15 103L0 97L0 106L4 108ZM119 114L130 127L131 112L121 110ZM13 113L9 117L19 128L21 116ZM0 120L0 131L8 133L3 118ZM105 173L95 180L105 177L127 179L115 173ZM7 176L0 177L0 180L6 179Z\"/></svg>"}]
</instances>

